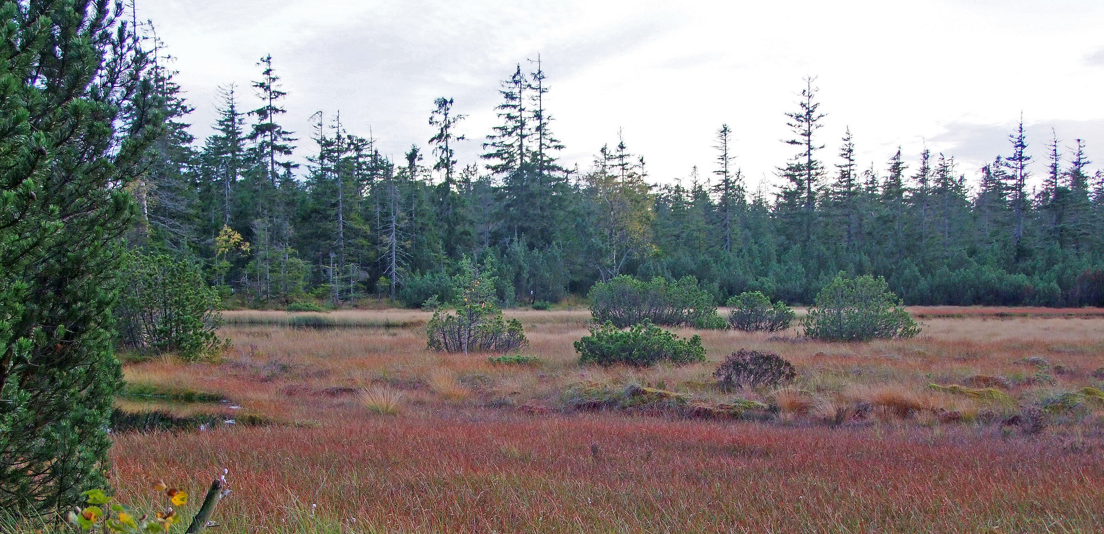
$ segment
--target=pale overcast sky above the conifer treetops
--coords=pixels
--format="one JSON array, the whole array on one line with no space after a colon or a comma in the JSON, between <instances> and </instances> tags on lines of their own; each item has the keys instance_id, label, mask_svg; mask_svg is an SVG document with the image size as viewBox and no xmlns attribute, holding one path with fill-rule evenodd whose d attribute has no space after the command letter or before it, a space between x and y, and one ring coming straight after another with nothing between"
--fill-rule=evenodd
<instances>
[{"instance_id":1,"label":"pale overcast sky above the conifer treetops","mask_svg":"<svg viewBox=\"0 0 1104 534\"><path fill-rule=\"evenodd\" d=\"M256 63L272 54L300 160L319 110L401 160L434 135L427 119L445 96L467 115L458 159L476 162L500 82L539 56L561 161L582 171L620 135L651 181L688 183L694 165L704 180L726 124L749 190L771 194L795 153L784 114L808 76L829 169L849 128L862 168L884 170L901 147L915 169L926 147L974 182L1010 152L1021 114L1036 182L1052 135L1063 150L1083 139L1100 162L1090 168L1104 168L1098 0L138 0L138 17L176 57L200 138L220 86L256 103Z\"/></svg>"}]
</instances>

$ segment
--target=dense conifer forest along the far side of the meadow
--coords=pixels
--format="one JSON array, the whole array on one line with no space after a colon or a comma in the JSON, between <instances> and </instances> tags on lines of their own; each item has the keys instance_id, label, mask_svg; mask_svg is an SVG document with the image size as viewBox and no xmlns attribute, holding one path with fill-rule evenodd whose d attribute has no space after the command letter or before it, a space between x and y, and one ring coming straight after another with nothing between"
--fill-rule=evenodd
<instances>
[{"instance_id":1,"label":"dense conifer forest along the far side of the meadow","mask_svg":"<svg viewBox=\"0 0 1104 534\"><path fill-rule=\"evenodd\" d=\"M913 165L900 150L860 164L850 131L825 149L807 79L786 114L794 157L777 192L749 191L728 126L709 168L657 185L622 139L586 169L563 165L533 65L502 82L500 124L465 164L455 153L465 117L444 97L428 113L435 135L400 161L340 115L316 114L298 139L280 125L286 95L270 56L251 94L224 88L214 134L199 143L191 108L158 67L169 135L134 186L141 217L129 242L202 264L225 298L256 307L449 301L464 258L497 277L505 305L585 295L620 274L692 275L716 302L757 290L809 303L839 271L884 276L910 305L1104 305L1104 179L1081 140L1044 140L1048 158L1032 161L1021 122L976 188L953 157L927 150ZM309 147L304 167L297 143ZM1029 185L1034 173L1041 188Z\"/></svg>"}]
</instances>

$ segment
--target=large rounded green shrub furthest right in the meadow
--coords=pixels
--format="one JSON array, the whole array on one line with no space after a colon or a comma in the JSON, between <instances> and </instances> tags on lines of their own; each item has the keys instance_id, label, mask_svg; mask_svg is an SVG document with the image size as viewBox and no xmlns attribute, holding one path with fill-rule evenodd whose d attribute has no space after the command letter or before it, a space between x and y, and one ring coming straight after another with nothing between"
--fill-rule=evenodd
<instances>
[{"instance_id":1,"label":"large rounded green shrub furthest right in the meadow","mask_svg":"<svg viewBox=\"0 0 1104 534\"><path fill-rule=\"evenodd\" d=\"M829 341L912 338L920 327L882 277L842 274L820 290L803 320L805 334Z\"/></svg>"}]
</instances>

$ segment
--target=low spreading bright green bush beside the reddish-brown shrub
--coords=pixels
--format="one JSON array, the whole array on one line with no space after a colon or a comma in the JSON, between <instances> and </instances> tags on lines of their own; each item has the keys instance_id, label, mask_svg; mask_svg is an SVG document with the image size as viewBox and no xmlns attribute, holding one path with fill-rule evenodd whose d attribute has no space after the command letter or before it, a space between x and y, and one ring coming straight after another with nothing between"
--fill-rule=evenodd
<instances>
[{"instance_id":1,"label":"low spreading bright green bush beside the reddish-brown shrub","mask_svg":"<svg viewBox=\"0 0 1104 534\"><path fill-rule=\"evenodd\" d=\"M700 337L680 340L678 335L656 327L647 319L628 330L620 330L608 321L594 327L591 335L575 342L575 352L580 354L578 363L602 365L625 363L645 366L660 361L676 364L705 361L705 349L701 346Z\"/></svg>"}]
</instances>

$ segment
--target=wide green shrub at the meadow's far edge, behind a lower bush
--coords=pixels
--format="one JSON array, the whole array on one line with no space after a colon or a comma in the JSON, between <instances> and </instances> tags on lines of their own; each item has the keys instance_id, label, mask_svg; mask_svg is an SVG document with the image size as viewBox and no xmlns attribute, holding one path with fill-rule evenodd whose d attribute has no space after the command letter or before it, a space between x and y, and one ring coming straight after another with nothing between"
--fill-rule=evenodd
<instances>
[{"instance_id":1,"label":"wide green shrub at the meadow's far edge, behind a lower bush","mask_svg":"<svg viewBox=\"0 0 1104 534\"><path fill-rule=\"evenodd\" d=\"M699 288L698 279L692 276L668 282L659 277L643 281L622 275L595 284L587 298L594 321L608 321L617 328L645 320L665 327L725 327L724 319L716 314L713 297Z\"/></svg>"}]
</instances>

